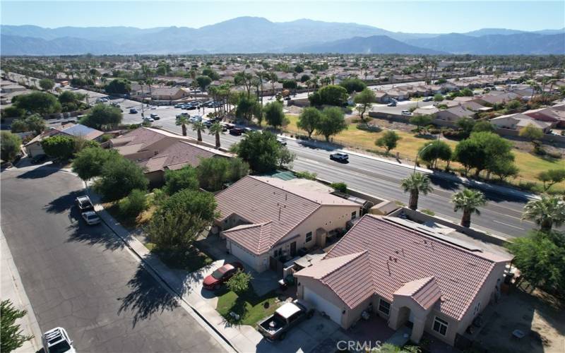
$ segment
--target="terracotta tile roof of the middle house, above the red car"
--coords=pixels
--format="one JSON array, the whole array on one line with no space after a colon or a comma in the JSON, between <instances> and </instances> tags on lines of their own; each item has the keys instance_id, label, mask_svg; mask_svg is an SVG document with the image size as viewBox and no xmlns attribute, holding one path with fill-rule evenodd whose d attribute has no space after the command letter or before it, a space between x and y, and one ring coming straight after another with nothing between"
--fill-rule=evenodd
<instances>
[{"instance_id":1,"label":"terracotta tile roof of the middle house, above the red car","mask_svg":"<svg viewBox=\"0 0 565 353\"><path fill-rule=\"evenodd\" d=\"M223 232L227 238L257 255L268 251L321 205L359 206L338 196L280 179L251 176L239 179L215 198L220 221L235 214L253 225L269 223L268 229L247 227Z\"/></svg>"}]
</instances>

